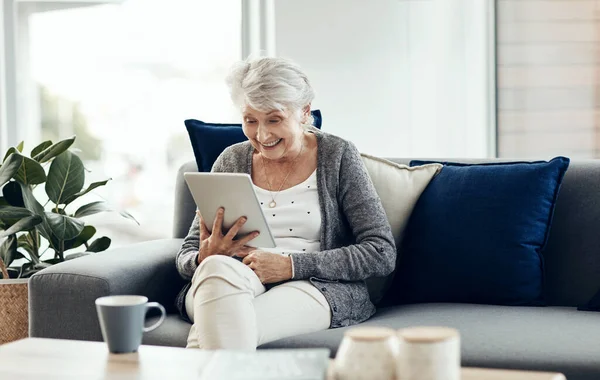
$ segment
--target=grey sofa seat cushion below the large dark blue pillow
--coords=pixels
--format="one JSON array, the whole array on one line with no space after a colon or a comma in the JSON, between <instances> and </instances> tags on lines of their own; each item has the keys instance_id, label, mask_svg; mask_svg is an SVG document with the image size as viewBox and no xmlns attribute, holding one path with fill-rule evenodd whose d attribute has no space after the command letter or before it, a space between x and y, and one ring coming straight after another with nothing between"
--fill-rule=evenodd
<instances>
[{"instance_id":1,"label":"grey sofa seat cushion below the large dark blue pillow","mask_svg":"<svg viewBox=\"0 0 600 380\"><path fill-rule=\"evenodd\" d=\"M565 307L431 303L381 308L363 325L455 327L463 366L556 371L583 380L600 379L598 317ZM347 330L299 335L261 348L328 347L335 355Z\"/></svg>"}]
</instances>

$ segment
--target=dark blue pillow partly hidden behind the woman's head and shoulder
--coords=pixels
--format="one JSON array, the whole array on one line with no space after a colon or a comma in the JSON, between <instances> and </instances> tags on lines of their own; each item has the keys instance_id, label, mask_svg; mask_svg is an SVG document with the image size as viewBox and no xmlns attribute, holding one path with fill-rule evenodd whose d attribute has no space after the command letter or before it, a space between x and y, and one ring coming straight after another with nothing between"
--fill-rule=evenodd
<instances>
[{"instance_id":1,"label":"dark blue pillow partly hidden behind the woman's head and shoulder","mask_svg":"<svg viewBox=\"0 0 600 380\"><path fill-rule=\"evenodd\" d=\"M311 111L313 125L321 129L323 121L320 110ZM198 164L198 171L210 172L212 166L221 154L230 145L248 140L242 131L241 124L205 123L200 120L189 119L185 121Z\"/></svg>"}]
</instances>

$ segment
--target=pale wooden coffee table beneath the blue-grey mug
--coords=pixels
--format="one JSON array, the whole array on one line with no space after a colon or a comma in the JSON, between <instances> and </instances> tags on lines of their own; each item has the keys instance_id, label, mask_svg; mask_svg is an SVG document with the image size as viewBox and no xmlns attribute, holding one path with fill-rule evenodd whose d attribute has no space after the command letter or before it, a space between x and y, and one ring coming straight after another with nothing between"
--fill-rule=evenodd
<instances>
[{"instance_id":1,"label":"pale wooden coffee table beneath the blue-grey mug","mask_svg":"<svg viewBox=\"0 0 600 380\"><path fill-rule=\"evenodd\" d=\"M27 338L0 346L2 380L198 379L210 351L141 346L113 355L103 342ZM330 380L333 378L330 376ZM462 380L565 380L559 373L463 368Z\"/></svg>"}]
</instances>

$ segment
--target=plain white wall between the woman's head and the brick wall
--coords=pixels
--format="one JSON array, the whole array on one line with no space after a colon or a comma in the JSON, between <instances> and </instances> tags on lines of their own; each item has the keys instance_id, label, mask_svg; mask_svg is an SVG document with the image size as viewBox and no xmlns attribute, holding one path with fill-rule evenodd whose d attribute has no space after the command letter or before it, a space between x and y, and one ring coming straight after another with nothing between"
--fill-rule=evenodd
<instances>
[{"instance_id":1,"label":"plain white wall between the woman's head and the brick wall","mask_svg":"<svg viewBox=\"0 0 600 380\"><path fill-rule=\"evenodd\" d=\"M307 71L324 130L385 157L494 154L492 1L274 3L276 54Z\"/></svg>"}]
</instances>

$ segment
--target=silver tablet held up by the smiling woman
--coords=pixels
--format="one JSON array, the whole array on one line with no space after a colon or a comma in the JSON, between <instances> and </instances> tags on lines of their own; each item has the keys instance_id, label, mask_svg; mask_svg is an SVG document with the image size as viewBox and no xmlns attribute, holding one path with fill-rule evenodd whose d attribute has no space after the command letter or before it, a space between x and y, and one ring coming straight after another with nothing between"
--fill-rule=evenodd
<instances>
[{"instance_id":1,"label":"silver tablet held up by the smiling woman","mask_svg":"<svg viewBox=\"0 0 600 380\"><path fill-rule=\"evenodd\" d=\"M246 245L262 248L276 247L249 174L188 172L183 173L183 177L209 231L212 230L217 210L223 207L225 209L224 231L228 231L240 217L245 216L248 220L237 236L259 231L260 235Z\"/></svg>"}]
</instances>

